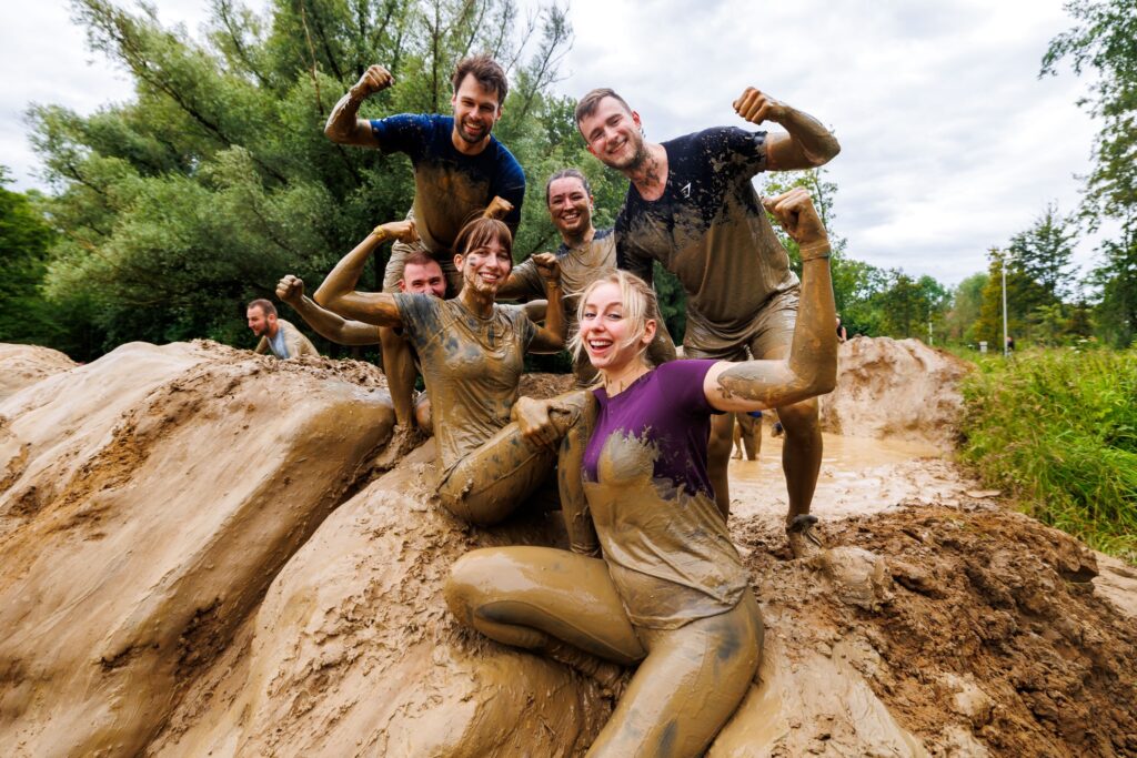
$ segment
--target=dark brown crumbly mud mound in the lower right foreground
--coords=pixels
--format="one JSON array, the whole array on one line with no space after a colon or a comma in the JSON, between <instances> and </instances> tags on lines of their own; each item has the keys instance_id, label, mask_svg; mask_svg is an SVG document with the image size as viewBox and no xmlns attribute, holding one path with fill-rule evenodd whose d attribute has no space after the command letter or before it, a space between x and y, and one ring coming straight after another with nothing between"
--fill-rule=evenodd
<instances>
[{"instance_id":1,"label":"dark brown crumbly mud mound in the lower right foreground","mask_svg":"<svg viewBox=\"0 0 1137 758\"><path fill-rule=\"evenodd\" d=\"M711 755L921 755L880 740L878 702L933 756L1137 755L1137 630L1070 536L995 509L904 509L827 527L844 547L805 566L774 559L782 538L757 520L733 532L786 659L744 706L775 714L766 747L732 724Z\"/></svg>"}]
</instances>

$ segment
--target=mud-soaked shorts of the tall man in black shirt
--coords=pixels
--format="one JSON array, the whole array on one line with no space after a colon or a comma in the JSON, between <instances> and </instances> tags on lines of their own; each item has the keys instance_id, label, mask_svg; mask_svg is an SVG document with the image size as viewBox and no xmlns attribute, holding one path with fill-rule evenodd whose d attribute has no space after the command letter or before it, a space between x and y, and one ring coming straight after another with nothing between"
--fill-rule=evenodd
<instances>
[{"instance_id":1,"label":"mud-soaked shorts of the tall man in black shirt","mask_svg":"<svg viewBox=\"0 0 1137 758\"><path fill-rule=\"evenodd\" d=\"M799 295L798 285L774 294L763 303L748 327L729 339L716 334L713 325L691 328L688 318L683 358L750 360L764 358L779 348L788 349L794 341Z\"/></svg>"}]
</instances>

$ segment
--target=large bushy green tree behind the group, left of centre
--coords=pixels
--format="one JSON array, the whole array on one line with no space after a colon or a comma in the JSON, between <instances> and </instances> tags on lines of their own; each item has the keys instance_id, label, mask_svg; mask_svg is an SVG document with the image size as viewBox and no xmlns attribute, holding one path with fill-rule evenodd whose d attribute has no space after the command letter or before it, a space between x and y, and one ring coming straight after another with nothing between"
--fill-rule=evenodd
<instances>
[{"instance_id":1,"label":"large bushy green tree behind the group, left of centre","mask_svg":"<svg viewBox=\"0 0 1137 758\"><path fill-rule=\"evenodd\" d=\"M138 339L250 344L246 301L271 297L285 273L315 284L372 227L406 214L404 156L323 135L334 102L373 63L397 85L368 99L363 117L446 111L460 57L503 61L512 88L496 134L529 182L518 257L555 239L545 177L587 163L571 102L549 93L572 43L563 9L522 18L513 0L274 0L260 15L214 0L198 43L147 6L74 7L91 48L135 92L89 117L30 110L59 233L44 291L92 331L80 358ZM365 274L372 288L382 264Z\"/></svg>"}]
</instances>

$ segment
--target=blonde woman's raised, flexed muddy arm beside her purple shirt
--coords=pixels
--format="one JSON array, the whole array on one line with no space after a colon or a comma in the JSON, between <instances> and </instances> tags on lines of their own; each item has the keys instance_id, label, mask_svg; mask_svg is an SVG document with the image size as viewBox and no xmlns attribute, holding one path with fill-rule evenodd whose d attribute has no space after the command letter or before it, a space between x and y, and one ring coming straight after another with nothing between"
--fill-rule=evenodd
<instances>
[{"instance_id":1,"label":"blonde woman's raised, flexed muddy arm beside her purple shirt","mask_svg":"<svg viewBox=\"0 0 1137 758\"><path fill-rule=\"evenodd\" d=\"M720 361L703 383L719 410L763 410L831 392L837 383L836 308L829 274L829 238L802 189L763 201L802 250L802 299L789 357Z\"/></svg>"}]
</instances>

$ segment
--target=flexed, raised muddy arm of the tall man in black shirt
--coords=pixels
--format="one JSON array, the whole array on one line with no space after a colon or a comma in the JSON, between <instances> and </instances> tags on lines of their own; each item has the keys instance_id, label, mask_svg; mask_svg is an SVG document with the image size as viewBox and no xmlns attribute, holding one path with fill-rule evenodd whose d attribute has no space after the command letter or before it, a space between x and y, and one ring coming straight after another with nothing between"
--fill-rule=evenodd
<instances>
[{"instance_id":1,"label":"flexed, raised muddy arm of the tall man in black shirt","mask_svg":"<svg viewBox=\"0 0 1137 758\"><path fill-rule=\"evenodd\" d=\"M766 168L770 170L816 168L841 151L837 138L816 118L753 86L746 88L735 101L735 113L752 124L770 120L788 132L766 135Z\"/></svg>"}]
</instances>

